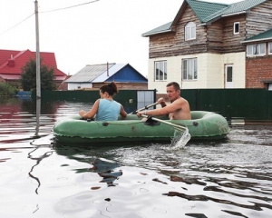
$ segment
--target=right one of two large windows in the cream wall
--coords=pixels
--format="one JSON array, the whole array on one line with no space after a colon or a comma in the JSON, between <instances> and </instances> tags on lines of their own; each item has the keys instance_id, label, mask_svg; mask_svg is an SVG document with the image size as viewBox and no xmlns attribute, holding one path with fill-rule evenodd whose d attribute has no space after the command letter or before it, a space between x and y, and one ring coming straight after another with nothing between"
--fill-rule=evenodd
<instances>
[{"instance_id":1,"label":"right one of two large windows in the cream wall","mask_svg":"<svg viewBox=\"0 0 272 218\"><path fill-rule=\"evenodd\" d=\"M182 78L183 80L198 79L198 63L197 58L182 60Z\"/></svg>"}]
</instances>

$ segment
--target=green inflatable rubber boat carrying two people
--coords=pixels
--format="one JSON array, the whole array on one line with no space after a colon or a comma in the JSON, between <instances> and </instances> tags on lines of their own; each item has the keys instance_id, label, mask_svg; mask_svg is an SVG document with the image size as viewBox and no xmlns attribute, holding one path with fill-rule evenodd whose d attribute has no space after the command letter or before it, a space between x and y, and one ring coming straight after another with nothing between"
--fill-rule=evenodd
<instances>
[{"instance_id":1,"label":"green inflatable rubber boat carrying two people","mask_svg":"<svg viewBox=\"0 0 272 218\"><path fill-rule=\"evenodd\" d=\"M220 114L205 111L192 111L191 120L169 120L168 116L156 121L142 121L135 114L128 114L118 121L86 121L79 115L63 118L53 126L57 142L73 144L119 143L119 142L170 142L175 128L170 124L186 126L190 140L223 139L229 132L227 120ZM161 122L157 121L160 118ZM165 121L168 124L163 123Z\"/></svg>"}]
</instances>

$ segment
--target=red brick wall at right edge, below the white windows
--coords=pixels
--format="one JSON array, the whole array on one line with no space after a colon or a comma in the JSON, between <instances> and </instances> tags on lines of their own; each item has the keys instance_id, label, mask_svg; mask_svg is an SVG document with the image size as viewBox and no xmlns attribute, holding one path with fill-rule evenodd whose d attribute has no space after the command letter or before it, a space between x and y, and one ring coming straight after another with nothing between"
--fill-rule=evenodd
<instances>
[{"instance_id":1,"label":"red brick wall at right edge, below the white windows","mask_svg":"<svg viewBox=\"0 0 272 218\"><path fill-rule=\"evenodd\" d=\"M248 58L246 88L265 88L262 80L272 79L272 56Z\"/></svg>"}]
</instances>

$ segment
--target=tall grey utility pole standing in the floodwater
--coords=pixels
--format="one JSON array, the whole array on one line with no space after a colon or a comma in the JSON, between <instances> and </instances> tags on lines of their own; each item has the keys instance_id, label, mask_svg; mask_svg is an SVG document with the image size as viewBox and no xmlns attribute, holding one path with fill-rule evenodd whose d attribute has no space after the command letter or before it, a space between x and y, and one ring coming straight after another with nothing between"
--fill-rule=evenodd
<instances>
[{"instance_id":1,"label":"tall grey utility pole standing in the floodwater","mask_svg":"<svg viewBox=\"0 0 272 218\"><path fill-rule=\"evenodd\" d=\"M39 42L39 15L38 1L35 0L35 22L36 22L36 97L41 98L41 72L40 72L40 42Z\"/></svg>"}]
</instances>

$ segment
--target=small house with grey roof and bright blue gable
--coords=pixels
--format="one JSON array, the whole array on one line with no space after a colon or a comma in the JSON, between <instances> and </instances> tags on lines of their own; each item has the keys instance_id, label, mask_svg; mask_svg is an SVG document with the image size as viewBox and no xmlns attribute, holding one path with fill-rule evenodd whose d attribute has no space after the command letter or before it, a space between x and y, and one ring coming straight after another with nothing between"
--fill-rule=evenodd
<instances>
[{"instance_id":1,"label":"small house with grey roof and bright blue gable","mask_svg":"<svg viewBox=\"0 0 272 218\"><path fill-rule=\"evenodd\" d=\"M143 90L148 88L148 80L131 64L93 64L86 65L78 73L65 81L68 90L99 89L102 84L114 81L118 88Z\"/></svg>"}]
</instances>

